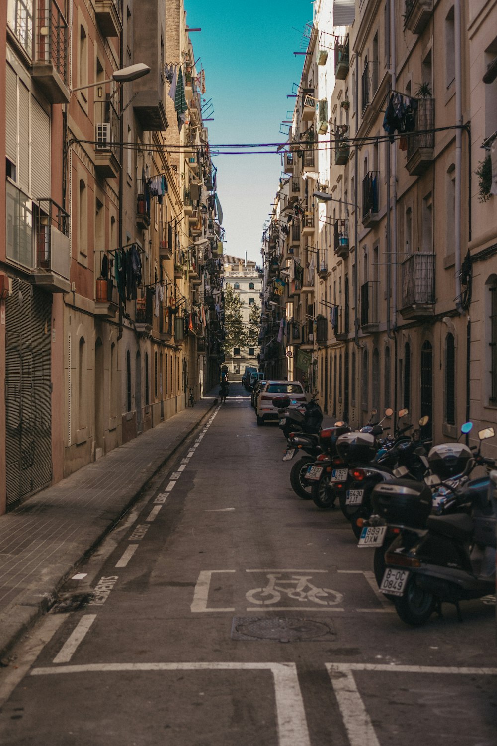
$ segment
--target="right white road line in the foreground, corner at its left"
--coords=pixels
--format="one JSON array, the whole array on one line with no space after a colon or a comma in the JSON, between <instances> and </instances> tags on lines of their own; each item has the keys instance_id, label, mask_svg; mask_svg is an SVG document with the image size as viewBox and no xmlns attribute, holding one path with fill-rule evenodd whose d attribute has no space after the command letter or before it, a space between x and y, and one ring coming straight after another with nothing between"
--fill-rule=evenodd
<instances>
[{"instance_id":1,"label":"right white road line in the foreground, corner at its left","mask_svg":"<svg viewBox=\"0 0 497 746\"><path fill-rule=\"evenodd\" d=\"M388 674L459 674L497 676L497 668L457 668L429 665L387 665L384 663L326 663L338 700L350 746L380 746L354 680L354 671L382 671Z\"/></svg>"}]
</instances>

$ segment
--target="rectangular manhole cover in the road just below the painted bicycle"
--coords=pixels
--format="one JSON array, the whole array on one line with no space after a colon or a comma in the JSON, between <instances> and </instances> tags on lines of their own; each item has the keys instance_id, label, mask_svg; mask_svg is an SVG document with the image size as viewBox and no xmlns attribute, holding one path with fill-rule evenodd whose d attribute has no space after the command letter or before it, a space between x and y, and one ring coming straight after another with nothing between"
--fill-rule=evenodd
<instances>
[{"instance_id":1,"label":"rectangular manhole cover in the road just below the painted bicycle","mask_svg":"<svg viewBox=\"0 0 497 746\"><path fill-rule=\"evenodd\" d=\"M295 617L234 616L231 627L232 640L303 642L326 640L330 635L336 635L331 622Z\"/></svg>"}]
</instances>

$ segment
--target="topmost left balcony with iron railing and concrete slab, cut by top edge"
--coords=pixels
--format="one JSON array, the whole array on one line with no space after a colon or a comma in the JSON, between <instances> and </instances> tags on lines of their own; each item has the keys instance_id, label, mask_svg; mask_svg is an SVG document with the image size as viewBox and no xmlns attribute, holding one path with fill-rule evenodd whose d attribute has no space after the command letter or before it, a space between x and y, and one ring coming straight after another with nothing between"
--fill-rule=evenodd
<instances>
[{"instance_id":1,"label":"topmost left balcony with iron railing and concrete slab, cut by top edge","mask_svg":"<svg viewBox=\"0 0 497 746\"><path fill-rule=\"evenodd\" d=\"M54 0L39 3L32 76L51 104L69 104L69 28Z\"/></svg>"}]
</instances>

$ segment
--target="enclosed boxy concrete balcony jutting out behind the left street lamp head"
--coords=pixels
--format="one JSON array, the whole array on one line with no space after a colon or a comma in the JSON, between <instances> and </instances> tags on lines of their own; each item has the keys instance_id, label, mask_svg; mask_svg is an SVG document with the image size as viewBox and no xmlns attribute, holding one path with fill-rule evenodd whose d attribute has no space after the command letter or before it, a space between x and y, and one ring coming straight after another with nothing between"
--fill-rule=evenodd
<instances>
[{"instance_id":1,"label":"enclosed boxy concrete balcony jutting out behind the left street lamp head","mask_svg":"<svg viewBox=\"0 0 497 746\"><path fill-rule=\"evenodd\" d=\"M140 0L139 13L133 16L133 59L148 65L151 72L133 81L133 111L146 132L163 132L168 128L164 104L165 39L164 5L157 0Z\"/></svg>"}]
</instances>

